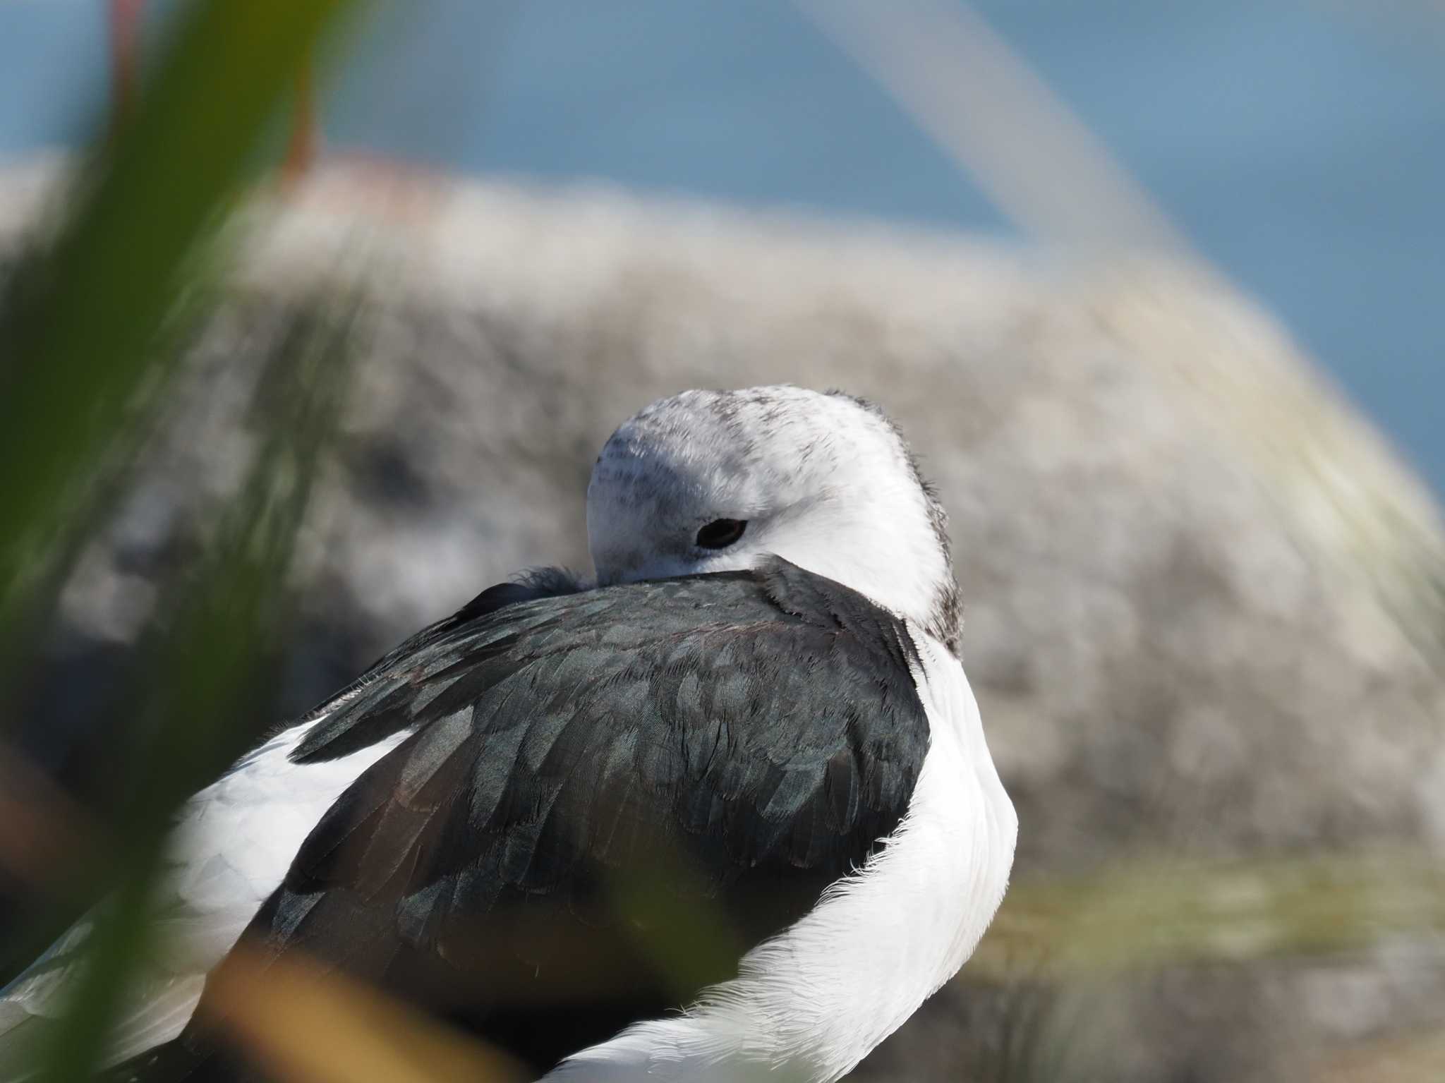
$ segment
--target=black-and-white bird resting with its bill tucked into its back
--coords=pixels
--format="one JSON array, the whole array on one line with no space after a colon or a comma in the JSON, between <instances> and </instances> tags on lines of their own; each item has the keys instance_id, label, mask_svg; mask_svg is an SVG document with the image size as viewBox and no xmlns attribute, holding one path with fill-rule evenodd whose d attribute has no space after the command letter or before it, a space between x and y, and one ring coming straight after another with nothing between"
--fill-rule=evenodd
<instances>
[{"instance_id":1,"label":"black-and-white bird resting with its bill tucked into its back","mask_svg":"<svg viewBox=\"0 0 1445 1083\"><path fill-rule=\"evenodd\" d=\"M900 429L682 391L605 442L587 533L594 578L483 591L185 803L124 1079L257 1077L197 1012L243 939L546 1083L827 1083L958 972L1017 819ZM0 992L0 1051L58 1025L88 934Z\"/></svg>"}]
</instances>

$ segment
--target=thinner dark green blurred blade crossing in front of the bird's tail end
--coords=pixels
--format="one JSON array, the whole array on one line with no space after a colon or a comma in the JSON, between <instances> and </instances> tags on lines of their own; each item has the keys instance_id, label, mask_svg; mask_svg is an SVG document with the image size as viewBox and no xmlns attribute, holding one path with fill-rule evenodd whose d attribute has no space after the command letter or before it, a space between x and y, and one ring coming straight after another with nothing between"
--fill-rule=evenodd
<instances>
[{"instance_id":1,"label":"thinner dark green blurred blade crossing in front of the bird's tail end","mask_svg":"<svg viewBox=\"0 0 1445 1083\"><path fill-rule=\"evenodd\" d=\"M123 721L131 761L116 827L118 877L91 963L56 1030L43 1079L87 1079L101 1061L129 976L146 956L147 917L175 807L234 758L256 729L259 664L283 615L285 575L321 455L341 412L354 310L298 305L263 374L262 449L201 572L179 583L142 645ZM114 868L114 866L113 866Z\"/></svg>"}]
</instances>

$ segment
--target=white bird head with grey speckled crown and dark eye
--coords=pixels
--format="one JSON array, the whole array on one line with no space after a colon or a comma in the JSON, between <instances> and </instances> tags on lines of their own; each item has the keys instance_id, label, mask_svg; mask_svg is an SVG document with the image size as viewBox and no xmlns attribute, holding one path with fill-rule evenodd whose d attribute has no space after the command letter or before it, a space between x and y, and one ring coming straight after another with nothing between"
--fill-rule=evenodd
<instances>
[{"instance_id":1,"label":"white bird head with grey speckled crown and dark eye","mask_svg":"<svg viewBox=\"0 0 1445 1083\"><path fill-rule=\"evenodd\" d=\"M946 516L897 427L837 391L683 391L623 423L587 488L600 585L777 554L955 648Z\"/></svg>"}]
</instances>

